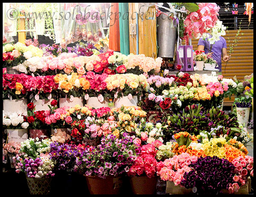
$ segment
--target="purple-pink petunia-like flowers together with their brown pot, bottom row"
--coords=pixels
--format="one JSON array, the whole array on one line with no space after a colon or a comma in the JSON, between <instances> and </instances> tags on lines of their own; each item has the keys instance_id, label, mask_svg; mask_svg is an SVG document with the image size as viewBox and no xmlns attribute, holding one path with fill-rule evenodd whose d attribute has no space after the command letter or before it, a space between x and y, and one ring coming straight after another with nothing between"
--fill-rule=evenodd
<instances>
[{"instance_id":1,"label":"purple-pink petunia-like flowers together with their brown pot, bottom row","mask_svg":"<svg viewBox=\"0 0 256 197\"><path fill-rule=\"evenodd\" d=\"M120 194L122 176L139 153L140 146L127 133L119 138L111 134L98 146L86 147L74 169L86 177L90 194Z\"/></svg>"}]
</instances>

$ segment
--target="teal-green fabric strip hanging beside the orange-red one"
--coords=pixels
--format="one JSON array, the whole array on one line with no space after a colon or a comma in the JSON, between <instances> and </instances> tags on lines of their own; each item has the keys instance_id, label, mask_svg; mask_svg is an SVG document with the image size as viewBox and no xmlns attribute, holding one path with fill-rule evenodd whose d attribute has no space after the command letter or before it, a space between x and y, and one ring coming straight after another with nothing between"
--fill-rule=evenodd
<instances>
[{"instance_id":1,"label":"teal-green fabric strip hanging beside the orange-red one","mask_svg":"<svg viewBox=\"0 0 256 197\"><path fill-rule=\"evenodd\" d=\"M119 17L120 53L129 55L130 45L129 45L128 3L119 3L119 12L121 13Z\"/></svg>"}]
</instances>

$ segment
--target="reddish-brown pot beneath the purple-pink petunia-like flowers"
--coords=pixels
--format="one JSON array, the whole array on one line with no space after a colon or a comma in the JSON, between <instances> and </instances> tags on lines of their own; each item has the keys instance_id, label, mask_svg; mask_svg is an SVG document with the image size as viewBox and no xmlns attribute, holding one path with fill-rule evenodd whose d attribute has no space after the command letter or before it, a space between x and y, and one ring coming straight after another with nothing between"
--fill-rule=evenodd
<instances>
[{"instance_id":1,"label":"reddish-brown pot beneath the purple-pink petunia-like flowers","mask_svg":"<svg viewBox=\"0 0 256 197\"><path fill-rule=\"evenodd\" d=\"M84 175L85 176L85 175ZM90 194L120 194L123 178L108 176L85 176Z\"/></svg>"}]
</instances>

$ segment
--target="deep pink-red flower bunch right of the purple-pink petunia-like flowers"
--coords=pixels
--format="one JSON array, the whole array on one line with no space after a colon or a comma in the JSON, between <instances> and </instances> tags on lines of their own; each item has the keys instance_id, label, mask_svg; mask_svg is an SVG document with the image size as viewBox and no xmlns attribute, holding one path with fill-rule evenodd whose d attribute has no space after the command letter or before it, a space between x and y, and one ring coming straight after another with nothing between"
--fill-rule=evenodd
<instances>
[{"instance_id":1,"label":"deep pink-red flower bunch right of the purple-pink petunia-like flowers","mask_svg":"<svg viewBox=\"0 0 256 197\"><path fill-rule=\"evenodd\" d=\"M133 165L127 172L128 176L145 175L149 178L155 177L157 172L156 146L153 144L143 145L140 155L134 160Z\"/></svg>"}]
</instances>

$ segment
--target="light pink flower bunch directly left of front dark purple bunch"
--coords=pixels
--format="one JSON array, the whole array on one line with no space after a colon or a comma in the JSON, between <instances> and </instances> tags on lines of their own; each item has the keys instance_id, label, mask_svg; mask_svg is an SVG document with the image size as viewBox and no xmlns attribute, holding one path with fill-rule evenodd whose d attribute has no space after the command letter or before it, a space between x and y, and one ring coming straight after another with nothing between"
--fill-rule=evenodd
<instances>
[{"instance_id":1,"label":"light pink flower bunch directly left of front dark purple bunch","mask_svg":"<svg viewBox=\"0 0 256 197\"><path fill-rule=\"evenodd\" d=\"M166 159L157 164L157 175L162 180L174 182L175 186L180 185L181 180L184 179L184 172L191 171L189 164L195 163L197 159L197 156L190 156L188 153L175 155L173 158Z\"/></svg>"}]
</instances>

